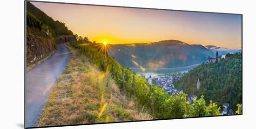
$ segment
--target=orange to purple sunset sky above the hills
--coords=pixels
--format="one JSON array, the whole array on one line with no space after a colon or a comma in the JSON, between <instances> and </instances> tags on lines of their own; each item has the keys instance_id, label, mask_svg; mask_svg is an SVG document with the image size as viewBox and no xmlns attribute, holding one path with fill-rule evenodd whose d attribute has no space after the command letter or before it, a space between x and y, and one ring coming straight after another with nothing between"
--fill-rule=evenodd
<instances>
[{"instance_id":1,"label":"orange to purple sunset sky above the hills","mask_svg":"<svg viewBox=\"0 0 256 129\"><path fill-rule=\"evenodd\" d=\"M241 48L242 16L109 6L31 2L69 30L108 44L175 39L188 44Z\"/></svg>"}]
</instances>

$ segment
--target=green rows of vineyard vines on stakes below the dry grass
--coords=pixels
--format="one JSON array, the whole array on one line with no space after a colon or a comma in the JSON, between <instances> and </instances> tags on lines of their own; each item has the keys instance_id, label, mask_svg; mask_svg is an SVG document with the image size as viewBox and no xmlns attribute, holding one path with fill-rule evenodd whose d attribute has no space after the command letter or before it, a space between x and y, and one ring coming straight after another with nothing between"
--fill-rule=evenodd
<instances>
[{"instance_id":1,"label":"green rows of vineyard vines on stakes below the dry grass","mask_svg":"<svg viewBox=\"0 0 256 129\"><path fill-rule=\"evenodd\" d=\"M179 92L168 94L164 89L149 84L145 78L137 76L133 71L108 56L107 46L101 44L84 44L80 41L69 43L77 52L84 55L101 71L112 73L122 94L135 100L136 108L145 109L154 119L169 119L182 117L218 116L220 107L204 97L194 99L193 104L187 101L187 94Z\"/></svg>"}]
</instances>

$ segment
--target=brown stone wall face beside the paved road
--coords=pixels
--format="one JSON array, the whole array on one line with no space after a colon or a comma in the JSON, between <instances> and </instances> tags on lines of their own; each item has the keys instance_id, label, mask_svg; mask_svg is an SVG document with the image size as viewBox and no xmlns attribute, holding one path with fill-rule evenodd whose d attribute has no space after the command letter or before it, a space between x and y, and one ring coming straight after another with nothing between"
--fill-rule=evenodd
<instances>
[{"instance_id":1,"label":"brown stone wall face beside the paved road","mask_svg":"<svg viewBox=\"0 0 256 129\"><path fill-rule=\"evenodd\" d=\"M27 66L46 58L54 52L55 39L46 39L42 37L27 36Z\"/></svg>"}]
</instances>

